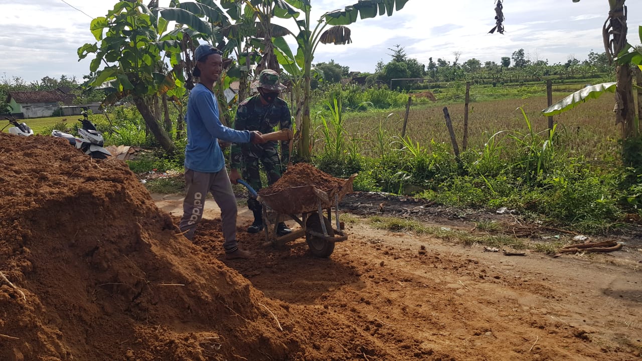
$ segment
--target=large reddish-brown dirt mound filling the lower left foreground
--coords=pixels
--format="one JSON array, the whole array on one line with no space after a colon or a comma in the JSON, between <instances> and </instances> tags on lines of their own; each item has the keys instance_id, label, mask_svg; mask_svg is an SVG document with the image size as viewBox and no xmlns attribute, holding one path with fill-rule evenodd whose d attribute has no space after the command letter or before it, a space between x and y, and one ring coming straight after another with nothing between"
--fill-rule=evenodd
<instances>
[{"instance_id":1,"label":"large reddish-brown dirt mound filling the lower left foreground","mask_svg":"<svg viewBox=\"0 0 642 361\"><path fill-rule=\"evenodd\" d=\"M354 357L318 346L334 337L322 316L267 299L177 234L117 159L0 134L0 204L0 360Z\"/></svg>"}]
</instances>

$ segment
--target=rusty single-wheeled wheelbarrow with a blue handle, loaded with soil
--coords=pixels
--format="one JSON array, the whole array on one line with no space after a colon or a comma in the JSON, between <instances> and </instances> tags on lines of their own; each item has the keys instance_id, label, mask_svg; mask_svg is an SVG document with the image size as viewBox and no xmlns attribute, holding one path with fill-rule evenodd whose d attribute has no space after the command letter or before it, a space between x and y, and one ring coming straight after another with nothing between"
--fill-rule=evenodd
<instances>
[{"instance_id":1,"label":"rusty single-wheeled wheelbarrow with a blue handle, loaded with soil","mask_svg":"<svg viewBox=\"0 0 642 361\"><path fill-rule=\"evenodd\" d=\"M256 195L256 191L246 182L239 180L239 183L250 189L250 193L254 191L254 197L263 205L266 242L272 243L275 247L282 247L288 242L305 237L313 256L328 257L334 251L334 243L348 239L340 227L339 201L346 193L352 192L352 182L356 176L357 174L351 175L343 184L329 191L309 185L291 187L269 195ZM286 220L294 220L301 227L279 236L277 225Z\"/></svg>"}]
</instances>

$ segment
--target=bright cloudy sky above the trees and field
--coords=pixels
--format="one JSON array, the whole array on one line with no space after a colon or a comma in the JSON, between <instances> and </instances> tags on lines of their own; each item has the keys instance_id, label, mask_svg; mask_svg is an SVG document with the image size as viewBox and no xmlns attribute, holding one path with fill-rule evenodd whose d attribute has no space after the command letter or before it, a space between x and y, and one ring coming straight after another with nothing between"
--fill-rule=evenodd
<instances>
[{"instance_id":1,"label":"bright cloudy sky above the trees and field","mask_svg":"<svg viewBox=\"0 0 642 361\"><path fill-rule=\"evenodd\" d=\"M186 0L187 1L187 0ZM147 2L147 1L146 1ZM20 76L31 82L43 76L89 73L89 61L78 62L76 50L95 42L89 31L93 17L104 16L116 0L0 0L0 77ZM160 0L167 6L169 0ZM356 0L313 0L313 17ZM629 42L639 44L642 1L629 0ZM388 62L396 44L409 57L433 60L477 58L499 62L523 48L532 60L584 60L593 49L603 51L602 25L607 0L505 0L504 35L488 34L494 26L493 0L410 0L392 17L375 17L350 26L352 44L320 45L315 62L334 59L352 71L374 71ZM281 22L291 28L291 20Z\"/></svg>"}]
</instances>

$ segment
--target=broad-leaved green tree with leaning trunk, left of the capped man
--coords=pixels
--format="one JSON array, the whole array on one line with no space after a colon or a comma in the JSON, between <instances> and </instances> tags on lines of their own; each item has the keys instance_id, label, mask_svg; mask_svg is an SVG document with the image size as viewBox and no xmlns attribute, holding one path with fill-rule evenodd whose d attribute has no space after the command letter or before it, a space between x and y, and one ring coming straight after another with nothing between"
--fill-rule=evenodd
<instances>
[{"instance_id":1,"label":"broad-leaved green tree with leaning trunk, left of the capped man","mask_svg":"<svg viewBox=\"0 0 642 361\"><path fill-rule=\"evenodd\" d=\"M150 6L156 4L152 2ZM89 66L96 76L87 84L110 91L103 104L132 96L155 139L171 153L176 146L160 126L159 112L154 110L158 96L176 87L176 74L180 71L178 65L166 66L165 57L180 53L182 33L163 35L167 26L167 21L140 0L119 1L107 16L92 20L96 42L78 48L78 58L96 55ZM103 69L99 69L101 65Z\"/></svg>"}]
</instances>

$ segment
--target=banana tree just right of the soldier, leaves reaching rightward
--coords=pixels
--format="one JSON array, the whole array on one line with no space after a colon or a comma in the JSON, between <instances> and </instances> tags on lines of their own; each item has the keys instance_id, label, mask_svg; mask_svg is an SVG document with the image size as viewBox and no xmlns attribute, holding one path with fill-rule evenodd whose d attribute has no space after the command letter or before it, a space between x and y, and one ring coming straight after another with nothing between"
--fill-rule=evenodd
<instances>
[{"instance_id":1,"label":"banana tree just right of the soldier, leaves reaching rightward","mask_svg":"<svg viewBox=\"0 0 642 361\"><path fill-rule=\"evenodd\" d=\"M299 34L297 35L297 54L303 57L303 104L302 121L297 124L297 138L299 139L299 154L302 158L310 157L310 101L312 79L312 62L319 43L322 44L350 44L351 30L345 25L352 24L358 19L369 19L378 15L392 15L396 10L401 10L409 0L360 0L356 4L346 6L343 10L326 12L318 19L317 24L311 23L310 0L284 0L294 8L304 13L305 18L296 20ZM325 30L326 26L332 27ZM324 31L325 30L325 31Z\"/></svg>"}]
</instances>

